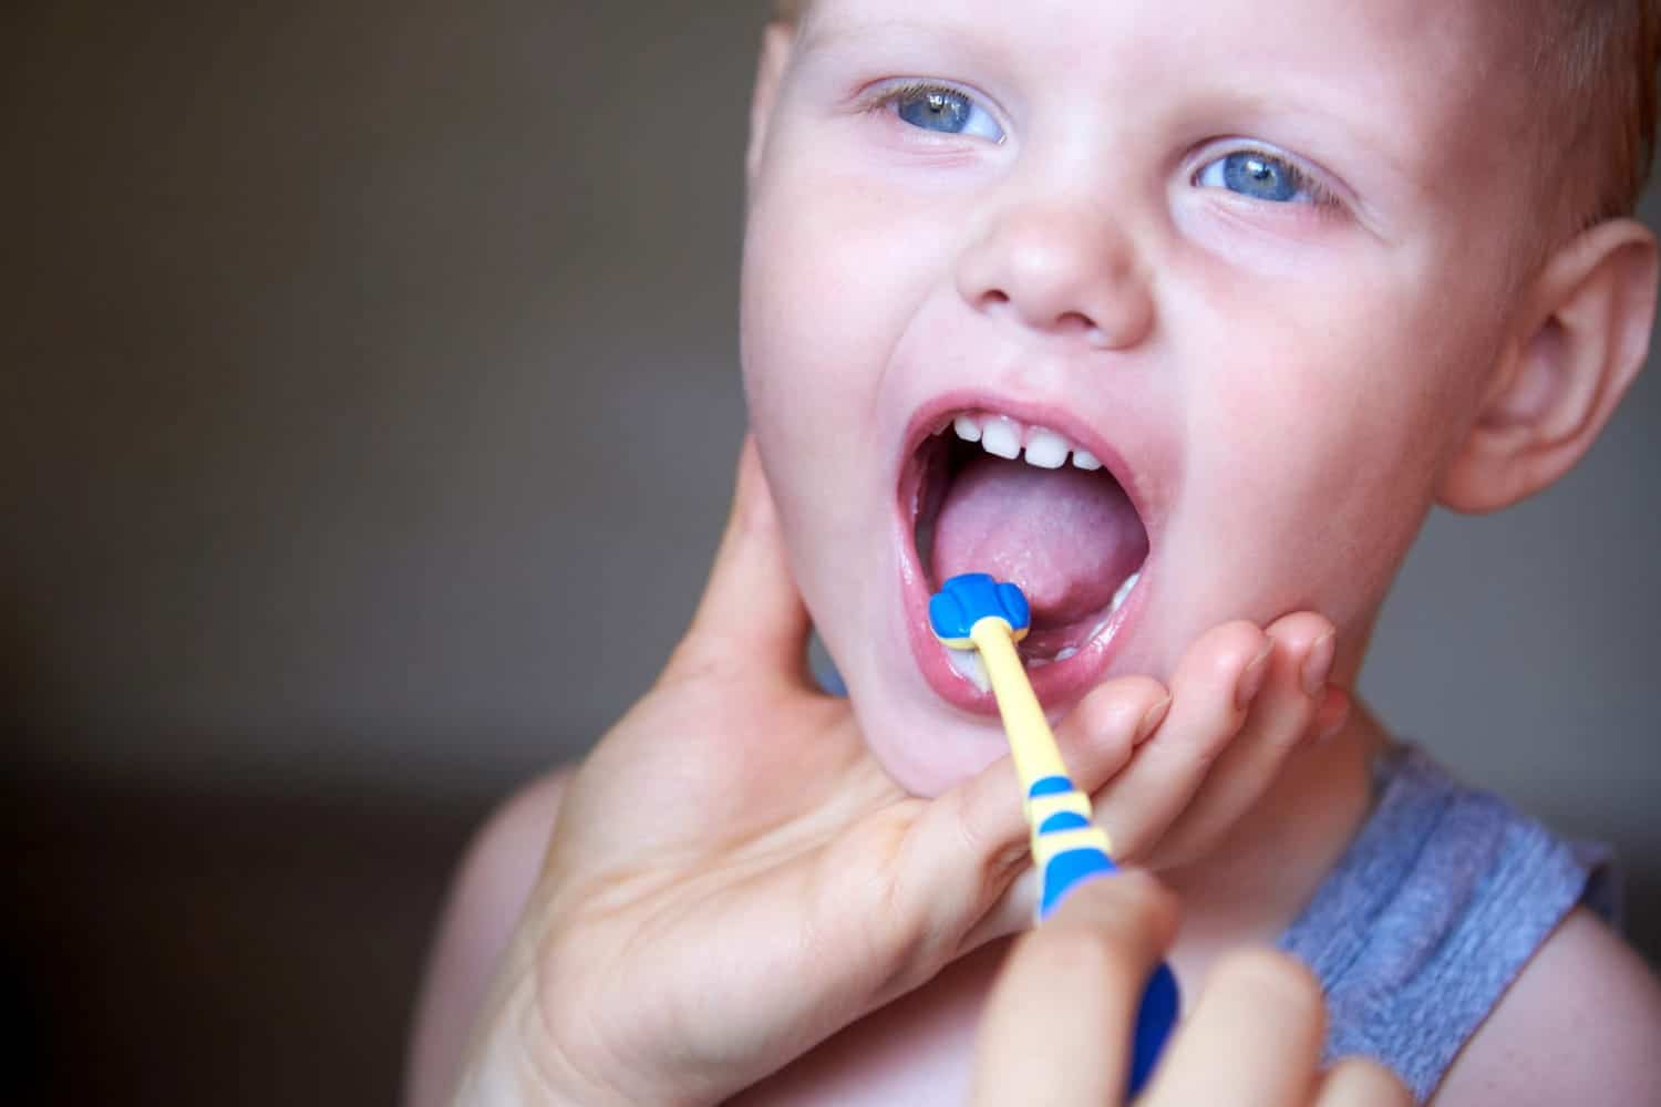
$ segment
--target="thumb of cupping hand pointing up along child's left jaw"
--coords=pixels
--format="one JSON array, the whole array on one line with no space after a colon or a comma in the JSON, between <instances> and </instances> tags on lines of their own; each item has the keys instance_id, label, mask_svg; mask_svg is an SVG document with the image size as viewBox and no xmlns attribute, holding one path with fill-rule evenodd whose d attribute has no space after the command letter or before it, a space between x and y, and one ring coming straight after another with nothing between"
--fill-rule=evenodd
<instances>
[{"instance_id":1,"label":"thumb of cupping hand pointing up along child's left jaw","mask_svg":"<svg viewBox=\"0 0 1661 1107\"><path fill-rule=\"evenodd\" d=\"M709 583L664 675L776 674L811 687L809 629L756 440L746 436Z\"/></svg>"}]
</instances>

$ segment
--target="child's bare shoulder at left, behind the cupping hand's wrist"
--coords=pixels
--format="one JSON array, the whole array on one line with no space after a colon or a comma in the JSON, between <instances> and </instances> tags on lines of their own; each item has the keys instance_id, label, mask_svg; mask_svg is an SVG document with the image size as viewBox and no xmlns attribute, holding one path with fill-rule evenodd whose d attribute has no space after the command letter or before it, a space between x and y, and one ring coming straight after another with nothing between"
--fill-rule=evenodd
<instances>
[{"instance_id":1,"label":"child's bare shoulder at left, behind the cupping hand's wrist","mask_svg":"<svg viewBox=\"0 0 1661 1107\"><path fill-rule=\"evenodd\" d=\"M545 773L497 805L455 870L410 1026L407 1107L450 1100L473 1012L537 883L570 775Z\"/></svg>"}]
</instances>

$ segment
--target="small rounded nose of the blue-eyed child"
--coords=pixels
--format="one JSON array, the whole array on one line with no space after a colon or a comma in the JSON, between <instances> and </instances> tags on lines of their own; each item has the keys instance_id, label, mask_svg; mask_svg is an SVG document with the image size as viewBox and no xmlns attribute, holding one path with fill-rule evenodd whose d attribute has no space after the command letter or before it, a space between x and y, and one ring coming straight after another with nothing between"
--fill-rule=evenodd
<instances>
[{"instance_id":1,"label":"small rounded nose of the blue-eyed child","mask_svg":"<svg viewBox=\"0 0 1661 1107\"><path fill-rule=\"evenodd\" d=\"M1076 206L1000 212L958 261L958 292L980 312L1013 314L1101 350L1153 330L1153 292L1123 229Z\"/></svg>"}]
</instances>

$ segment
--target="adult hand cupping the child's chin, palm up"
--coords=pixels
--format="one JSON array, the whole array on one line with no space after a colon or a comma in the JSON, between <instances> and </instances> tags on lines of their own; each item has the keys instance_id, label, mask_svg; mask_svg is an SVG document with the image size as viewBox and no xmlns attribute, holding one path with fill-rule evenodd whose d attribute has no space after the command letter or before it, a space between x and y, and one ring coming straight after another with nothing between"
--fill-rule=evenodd
<instances>
[{"instance_id":1,"label":"adult hand cupping the child's chin, palm up","mask_svg":"<svg viewBox=\"0 0 1661 1107\"><path fill-rule=\"evenodd\" d=\"M1214 831L1261 795L1325 722L1330 695L1301 674L1329 627L1226 624L1169 692L1120 677L1080 704L1058 729L1075 782L1136 783L1098 797L1121 853L1174 823ZM1008 758L933 800L905 795L845 700L814 685L807 632L746 445L691 629L566 788L462 1102L716 1102L1026 926ZM1229 758L1229 782L1208 773Z\"/></svg>"}]
</instances>

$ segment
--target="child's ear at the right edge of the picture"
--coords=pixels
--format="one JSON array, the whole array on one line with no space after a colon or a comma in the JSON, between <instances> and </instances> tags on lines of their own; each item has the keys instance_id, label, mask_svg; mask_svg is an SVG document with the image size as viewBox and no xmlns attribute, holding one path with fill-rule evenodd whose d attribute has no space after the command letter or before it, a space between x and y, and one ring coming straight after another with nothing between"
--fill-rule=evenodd
<instances>
[{"instance_id":1,"label":"child's ear at the right edge of the picture","mask_svg":"<svg viewBox=\"0 0 1661 1107\"><path fill-rule=\"evenodd\" d=\"M1600 222L1546 262L1442 473L1443 506L1497 511L1585 456L1649 355L1656 276L1656 239L1633 219Z\"/></svg>"}]
</instances>

